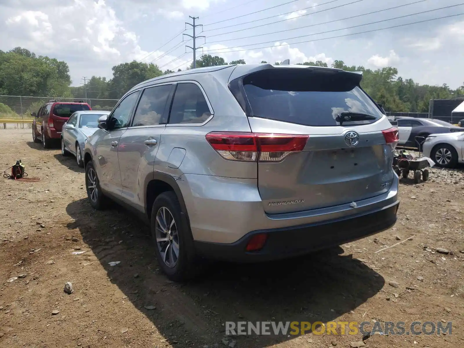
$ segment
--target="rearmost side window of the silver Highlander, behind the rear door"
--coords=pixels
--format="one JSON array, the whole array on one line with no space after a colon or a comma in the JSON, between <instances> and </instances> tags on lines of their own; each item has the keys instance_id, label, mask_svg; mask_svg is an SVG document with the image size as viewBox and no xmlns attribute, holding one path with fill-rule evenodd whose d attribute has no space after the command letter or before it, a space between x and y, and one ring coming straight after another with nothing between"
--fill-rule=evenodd
<instances>
[{"instance_id":1,"label":"rearmost side window of the silver Highlander, behind the rear door","mask_svg":"<svg viewBox=\"0 0 464 348\"><path fill-rule=\"evenodd\" d=\"M203 123L211 116L200 87L192 83L177 85L169 116L169 124Z\"/></svg>"}]
</instances>

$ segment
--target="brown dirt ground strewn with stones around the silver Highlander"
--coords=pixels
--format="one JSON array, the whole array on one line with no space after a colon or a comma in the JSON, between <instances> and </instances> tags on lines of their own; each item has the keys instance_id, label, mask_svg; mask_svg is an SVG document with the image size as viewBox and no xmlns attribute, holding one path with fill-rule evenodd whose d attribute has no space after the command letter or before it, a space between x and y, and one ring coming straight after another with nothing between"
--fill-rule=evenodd
<instances>
[{"instance_id":1,"label":"brown dirt ground strewn with stones around the silver Highlander","mask_svg":"<svg viewBox=\"0 0 464 348\"><path fill-rule=\"evenodd\" d=\"M117 206L91 209L73 157L34 144L30 129L0 129L1 167L17 159L41 180L1 179L0 347L464 347L463 169L433 169L418 185L402 180L397 224L343 251L215 263L195 282L174 284L157 267L146 226ZM451 335L223 342L226 321L333 320L453 325Z\"/></svg>"}]
</instances>

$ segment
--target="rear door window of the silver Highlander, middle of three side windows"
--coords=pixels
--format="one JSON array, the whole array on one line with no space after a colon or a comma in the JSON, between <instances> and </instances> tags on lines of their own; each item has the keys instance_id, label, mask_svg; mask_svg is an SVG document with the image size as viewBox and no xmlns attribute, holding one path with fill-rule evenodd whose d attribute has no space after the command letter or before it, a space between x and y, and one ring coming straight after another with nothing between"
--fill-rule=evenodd
<instances>
[{"instance_id":1,"label":"rear door window of the silver Highlander, middle of three side windows","mask_svg":"<svg viewBox=\"0 0 464 348\"><path fill-rule=\"evenodd\" d=\"M135 111L132 127L160 124L171 89L171 84L145 89Z\"/></svg>"}]
</instances>

